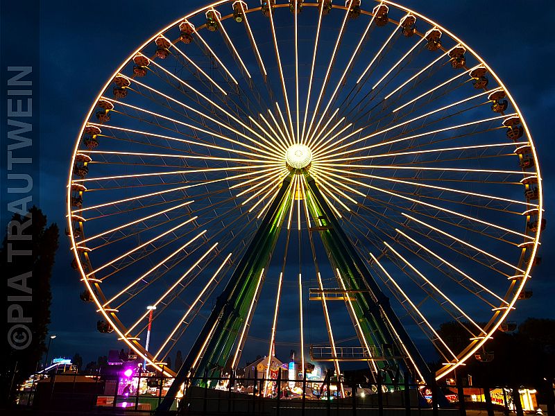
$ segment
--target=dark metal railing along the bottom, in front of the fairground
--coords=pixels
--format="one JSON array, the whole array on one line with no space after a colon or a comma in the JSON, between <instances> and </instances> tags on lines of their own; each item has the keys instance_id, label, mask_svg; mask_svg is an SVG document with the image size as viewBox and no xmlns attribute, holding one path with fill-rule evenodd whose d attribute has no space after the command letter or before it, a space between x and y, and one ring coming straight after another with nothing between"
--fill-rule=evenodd
<instances>
[{"instance_id":1,"label":"dark metal railing along the bottom, in front of the fairground","mask_svg":"<svg viewBox=\"0 0 555 416\"><path fill-rule=\"evenodd\" d=\"M130 385L146 388L121 392L121 379L89 376L85 382L82 377L77 373L55 374L44 379L31 390L19 392L19 406L56 410L56 415L76 411L155 415L173 380L163 376L133 376ZM547 414L555 416L553 391L551 395ZM194 377L185 381L183 392L171 401L171 415L361 416L370 412L383 416L386 411L409 416L418 411L418 415L466 416L467 410L486 410L488 416L494 416L494 410L499 410L505 416L509 413L523 416L524 410L528 410L523 409L518 388L422 386L407 381L382 383L379 379L368 383L364 379L337 381L330 376L323 380L307 376L290 380L282 377L282 372L275 379Z\"/></svg>"}]
</instances>

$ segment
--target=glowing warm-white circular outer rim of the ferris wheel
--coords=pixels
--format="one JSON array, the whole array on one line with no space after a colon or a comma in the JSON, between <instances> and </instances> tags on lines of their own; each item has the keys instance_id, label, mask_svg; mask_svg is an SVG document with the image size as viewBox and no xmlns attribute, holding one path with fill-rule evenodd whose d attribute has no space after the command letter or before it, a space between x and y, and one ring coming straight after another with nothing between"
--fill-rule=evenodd
<instances>
[{"instance_id":1,"label":"glowing warm-white circular outer rim of the ferris wheel","mask_svg":"<svg viewBox=\"0 0 555 416\"><path fill-rule=\"evenodd\" d=\"M103 89L101 89L101 93L99 94L99 96L96 97L96 100L92 104L92 107L90 108L89 113L87 114L85 122L83 123L82 128L80 129L80 133L78 135L78 138L83 136L85 126L87 125L88 120L91 118L91 116L94 112L94 108L96 107L97 103L99 102L99 100L103 96L104 92L110 87L110 84L112 83L114 77L117 76L120 73L120 71L123 69L123 67L126 66L126 64L128 64L131 60L133 60L133 57L135 57L135 55L137 55L138 53L141 53L141 51L148 44L151 44L151 42L153 42L153 40L155 40L158 36L160 36L163 33L169 31L169 29L173 28L174 26L180 24L180 22L182 22L184 19L191 19L191 17L199 15L200 13L203 13L207 10L212 9L212 8L216 8L217 6L221 6L225 3L234 3L234 1L230 1L230 0L216 1L216 2L211 3L211 4L209 4L209 5L207 5L203 8L199 8L198 10L195 10L194 12L189 13L185 17L181 17L180 19L177 19L173 23L169 24L166 28L162 29L162 31L153 35L146 42L144 42L144 44L142 44L142 46L140 46L136 51L131 53L129 55L128 59L125 62L123 62L123 64L121 64L121 66L116 71L114 71L112 76L109 78L108 82L104 85ZM373 5L375 5L375 4L386 4L388 6L393 6L395 8L398 8L399 10L403 10L404 12L411 13L412 15L426 21L427 23L431 24L432 26L435 26L440 31L442 31L446 35L452 37L452 39L459 42L459 44L461 44L461 46L463 46L466 49L466 51L468 51L468 53L471 53L472 55L474 55L475 58L477 58L477 60L479 60L479 62L481 62L481 64L484 67L486 67L486 69L488 70L488 73L490 73L490 75L493 76L493 78L495 78L495 80L499 84L499 87L504 90L504 92L506 93L506 97L509 99L509 101L511 101L511 104L513 105L513 107L515 109L515 112L518 114L518 117L520 118L522 126L525 130L525 133L526 133L527 137L529 138L529 145L530 145L530 148L531 148L531 153L533 155L533 159L536 161L535 168L536 168L536 173L537 173L537 177L538 177L537 187L538 187L538 192L539 192L538 222L541 222L542 218L543 218L543 191L542 191L542 180L541 180L541 176L540 176L540 168L539 168L539 165L537 163L538 157L537 157L537 153L536 153L536 148L533 144L533 139L532 139L531 134L529 132L529 128L527 126L527 123L524 120L524 117L522 116L522 113L520 112L520 110L518 108L518 105L515 103L515 101L513 100L513 97L511 96L509 90L506 89L506 87L504 86L502 81L499 79L499 77L497 76L495 71L493 71L488 66L488 64L486 64L486 62L484 62L484 60L482 60L479 57L479 55L477 55L477 53L475 53L475 51L473 51L462 40L460 40L458 37L453 35L450 31L447 31L447 29L443 28L443 26L440 26L440 25L436 24L434 21L432 21L430 19L427 19L427 17L425 17L423 15L420 15L418 12L410 10L409 8L405 8L404 6L401 6L398 3L393 3L391 1L375 1L373 3ZM276 4L275 5L276 8L288 7L288 6L289 6L288 3ZM318 3L305 2L304 6L318 6ZM258 11L260 9L261 9L260 7L251 8L251 9L248 9L248 10L244 10L244 12L250 13L250 12ZM334 9L348 10L348 7L334 5ZM361 10L361 13L363 15L372 15L372 13L367 11L367 10ZM232 17L232 15L226 15L226 16L221 17L221 20L225 20L225 19L228 19L230 17ZM392 22L393 20L389 19L389 21ZM395 21L393 21L393 22L395 23ZM204 26L199 26L197 28L197 30L202 29L203 27ZM423 33L417 33L417 34L420 37L424 36ZM69 228L70 237L71 237L71 249L74 250L74 252L78 252L78 247L77 247L77 244L76 244L76 239L74 237L74 229L71 225L72 219L71 219L70 200L71 200L71 184L74 183L74 181L72 180L72 168L73 168L73 166L76 162L76 155L78 154L79 144L80 144L80 141L78 139L78 141L76 143L76 147L74 148L74 152L73 152L73 155L72 155L71 167L70 167L70 171L69 171L69 181L68 181L68 187L67 187L67 211L69 213L69 215L68 215L69 227L68 228ZM289 151L289 149L288 149L288 151ZM305 158L302 159L302 160L297 161L296 162L297 164L291 163L291 157L289 157L289 159L287 159L287 154L284 158L285 158L286 163L287 163L288 166L291 166L293 168L305 168L310 163L310 159L311 159L311 154L310 154L309 149L308 149L308 152L309 152L309 155L307 156L306 153L305 153L305 155L304 155ZM294 154L294 152L293 152L293 154ZM308 162L307 162L307 160L308 160ZM298 166L300 166L300 167L298 167ZM537 249L538 249L538 243L539 243L539 237L540 237L540 229L538 227L538 229L536 230L536 235L533 239L533 247L531 248L531 258L532 259L536 256L536 252L537 252ZM522 257L521 257L521 261L522 261ZM477 350L480 349L486 343L488 338L490 338L493 335L493 333L495 333L495 331L499 328L499 326L502 324L502 322L504 322L504 320L506 319L506 316L509 315L509 312L511 311L511 309L514 309L513 306L514 306L514 304L515 304L515 302L518 298L518 295L520 295L520 293L522 292L522 289L524 288L524 284L528 280L527 277L529 277L532 266L533 266L532 262L529 261L529 263L527 264L526 269L525 269L524 278L520 281L520 285L518 286L518 288L515 292L515 295L514 295L513 299L511 300L511 302L509 303L509 305L506 306L506 308L504 308L504 309L500 309L499 311L495 311L495 314L493 315L493 318L490 321L490 322L493 322L493 325L491 325L488 328L487 335L483 336L483 337L480 337L480 339L474 340L472 343L470 343L470 345L461 354L459 354L460 358L458 359L458 361L456 363L449 363L449 364L445 365L441 370L439 370L438 373L436 373L436 379L440 379L442 376L445 376L450 371L454 370L456 367L463 364L470 356L472 356L472 354L475 354L475 352L477 352ZM153 365L153 367L155 367L157 370L162 370L162 367L160 365L157 365L156 363L151 361L151 356L146 354L146 352L144 350L144 347L142 347L142 345L140 345L137 340L130 339L127 336L124 335L124 333L123 333L124 331L121 330L121 328L123 327L123 324L117 319L115 311L110 311L110 310L105 309L103 307L103 304L105 303L105 299L99 300L99 298L96 297L95 291L92 290L92 282L90 281L90 279L87 279L86 273L83 270L83 265L82 265L79 258L78 258L78 270L79 270L80 274L83 277L82 280L85 282L85 286L87 287L87 290L89 291L89 293L92 294L92 297L94 299L94 302L95 302L97 308L99 309L99 311L101 312L103 317L108 322L110 322L112 324L112 327L114 328L114 331L116 331L118 333L119 337L128 345L128 347L135 350L135 352L137 352L137 354L144 357L146 359L146 361L151 363L151 365ZM495 321L497 321L497 322L495 322ZM173 372L171 372L171 370L164 369L164 372L167 375L173 375Z\"/></svg>"}]
</instances>

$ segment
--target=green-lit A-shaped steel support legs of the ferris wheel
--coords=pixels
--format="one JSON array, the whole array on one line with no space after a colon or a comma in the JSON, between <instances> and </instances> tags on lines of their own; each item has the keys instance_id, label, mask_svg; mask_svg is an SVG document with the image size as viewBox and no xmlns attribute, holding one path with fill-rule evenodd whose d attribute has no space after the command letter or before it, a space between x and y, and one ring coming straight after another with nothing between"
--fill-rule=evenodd
<instances>
[{"instance_id":1,"label":"green-lit A-shaped steel support legs of the ferris wheel","mask_svg":"<svg viewBox=\"0 0 555 416\"><path fill-rule=\"evenodd\" d=\"M327 205L314 178L306 172L304 174L308 184L306 198L310 214L317 221L317 232L319 232L323 244L330 254L332 265L339 269L343 284L349 290L352 290L352 295L356 297L356 300L352 303L366 342L378 347L377 344L379 343L382 343L381 347L383 347L383 344L398 345L395 336L393 336L392 328L388 326L384 318L384 315L387 315L389 322L391 322L418 369L422 374L425 374L427 378L425 381L435 383L433 374L429 371L418 349L416 349L407 331L404 330L400 320L391 308L388 297L381 291L365 263L350 243L348 236L341 229L338 218ZM180 386L187 381L189 375L207 374L210 378L221 375L221 371L224 369L232 371L230 368L232 347L237 344L241 324L246 318L246 310L257 295L255 293L257 279L261 278L262 269L268 266L275 243L278 241L284 220L282 214L287 211L293 200L291 193L287 192L291 183L291 176L289 175L284 179L278 195L264 215L264 219L246 253L239 261L239 265L234 270L227 286L217 298L212 313L210 313L193 347L191 347L162 404L158 407L158 414L169 410ZM337 278L339 279L339 276ZM366 288L361 284L364 284ZM214 325L216 326L212 331ZM211 333L212 336L210 336ZM205 345L205 341L209 337L210 340ZM205 345L204 348L203 345ZM398 351L401 351L399 346ZM201 354L200 360L193 368L194 361L196 361L199 353ZM407 361L389 361L378 361L377 365L384 368L388 364L401 364L403 367L400 368L399 374L407 374L408 371L413 374L413 379L417 379L413 367ZM391 374L386 373L386 377L391 378ZM396 382L402 383L402 380L399 378Z\"/></svg>"}]
</instances>

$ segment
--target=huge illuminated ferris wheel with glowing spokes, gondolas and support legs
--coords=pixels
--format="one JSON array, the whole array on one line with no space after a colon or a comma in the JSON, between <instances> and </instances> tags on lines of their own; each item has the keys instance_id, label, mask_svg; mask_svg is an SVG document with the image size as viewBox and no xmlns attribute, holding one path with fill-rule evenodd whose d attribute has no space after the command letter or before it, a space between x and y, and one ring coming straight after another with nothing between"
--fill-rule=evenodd
<instances>
[{"instance_id":1,"label":"huge illuminated ferris wheel with glowing spokes, gondolas and support legs","mask_svg":"<svg viewBox=\"0 0 555 416\"><path fill-rule=\"evenodd\" d=\"M443 26L390 1L222 0L94 99L68 234L99 331L165 374L260 354L269 376L293 349L302 372L426 381L511 329L542 198L518 106ZM181 371L164 365L177 349Z\"/></svg>"}]
</instances>

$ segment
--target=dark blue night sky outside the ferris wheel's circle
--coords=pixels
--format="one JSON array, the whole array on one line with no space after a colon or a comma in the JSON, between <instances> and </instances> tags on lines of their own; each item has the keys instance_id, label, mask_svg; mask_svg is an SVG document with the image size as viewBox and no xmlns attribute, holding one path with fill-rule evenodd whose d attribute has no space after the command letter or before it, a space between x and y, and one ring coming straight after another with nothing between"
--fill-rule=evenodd
<instances>
[{"instance_id":1,"label":"dark blue night sky outside the ferris wheel's circle","mask_svg":"<svg viewBox=\"0 0 555 416\"><path fill-rule=\"evenodd\" d=\"M250 3L255 0L250 1ZM41 10L40 207L60 225L60 250L53 270L50 332L58 338L51 356L79 352L87 363L121 348L115 336L96 331L99 315L79 299L83 286L70 267L65 229L67 171L83 117L105 80L146 38L205 1L48 1ZM538 148L548 221L532 272L534 295L519 302L511 320L555 318L555 227L550 218L555 189L552 118L555 112L555 2L406 0L413 8L461 37L492 67L520 106ZM364 7L364 0L363 0ZM555 222L555 221L553 221ZM173 354L172 354L173 356ZM246 357L244 357L246 358Z\"/></svg>"}]
</instances>

